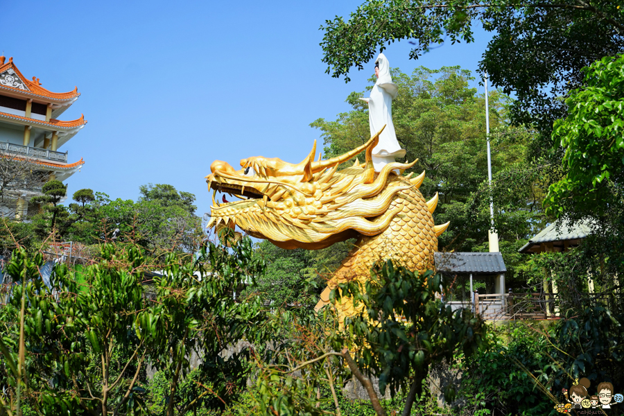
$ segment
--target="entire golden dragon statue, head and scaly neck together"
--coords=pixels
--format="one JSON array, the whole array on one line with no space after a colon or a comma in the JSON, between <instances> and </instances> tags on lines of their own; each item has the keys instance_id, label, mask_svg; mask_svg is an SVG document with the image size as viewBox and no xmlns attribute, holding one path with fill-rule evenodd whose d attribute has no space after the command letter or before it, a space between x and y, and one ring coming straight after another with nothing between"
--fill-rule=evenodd
<instances>
[{"instance_id":1,"label":"entire golden dragon statue, head and scaly neck together","mask_svg":"<svg viewBox=\"0 0 624 416\"><path fill-rule=\"evenodd\" d=\"M381 129L383 130L383 128ZM437 193L426 202L417 177L403 176L411 163L390 163L374 171L372 149L379 133L350 152L314 160L316 141L299 164L278 158L250 157L235 170L226 162L214 161L206 177L212 189L213 205L207 227L237 225L250 236L268 239L280 248L319 250L338 241L356 238L354 248L343 260L324 289L317 309L329 302L331 286L342 279L370 277L376 261L393 259L410 270L433 268L437 237L449 223L434 225ZM365 162L338 171L338 165L365 150ZM222 204L216 191L240 200ZM343 302L343 312L352 310Z\"/></svg>"}]
</instances>

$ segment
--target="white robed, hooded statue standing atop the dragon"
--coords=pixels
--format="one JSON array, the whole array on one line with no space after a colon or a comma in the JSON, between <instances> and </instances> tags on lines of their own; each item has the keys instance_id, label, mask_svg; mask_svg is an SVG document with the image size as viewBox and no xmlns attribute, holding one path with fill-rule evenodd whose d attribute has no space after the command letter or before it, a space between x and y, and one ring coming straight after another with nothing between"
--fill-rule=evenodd
<instances>
[{"instance_id":1,"label":"white robed, hooded statue standing atop the dragon","mask_svg":"<svg viewBox=\"0 0 624 416\"><path fill-rule=\"evenodd\" d=\"M370 135L376 135L385 125L379 136L379 143L372 152L375 171L379 172L386 164L395 162L395 157L404 157L405 150L401 149L395 133L395 125L392 124L392 99L397 98L399 89L395 83L392 83L390 65L383 53L379 53L375 60L375 75L377 82L370 92L370 98L360 99L368 103Z\"/></svg>"}]
</instances>

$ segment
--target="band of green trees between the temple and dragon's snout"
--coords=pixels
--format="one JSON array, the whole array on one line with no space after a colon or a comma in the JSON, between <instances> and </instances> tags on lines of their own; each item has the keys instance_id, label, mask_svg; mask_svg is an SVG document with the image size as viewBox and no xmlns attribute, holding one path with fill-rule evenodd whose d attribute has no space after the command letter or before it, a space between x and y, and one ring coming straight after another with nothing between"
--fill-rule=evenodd
<instances>
[{"instance_id":1,"label":"band of green trees between the temple and dragon's snout","mask_svg":"<svg viewBox=\"0 0 624 416\"><path fill-rule=\"evenodd\" d=\"M31 225L8 225L0 232L0 245L15 247L15 240L28 250L39 248L52 230L57 241L73 241L96 245L110 241L116 235L117 243L137 243L149 257L160 258L168 251L194 252L202 240L201 219L194 214L195 196L177 191L167 184L148 184L140 188L137 202L111 200L105 193L80 189L73 194L76 202L68 207L60 205L65 185L58 181L44 185L46 195L33 198L43 203L43 209L31 219ZM26 232L23 229L34 229ZM115 230L119 232L115 233ZM10 232L9 232L10 231Z\"/></svg>"}]
</instances>

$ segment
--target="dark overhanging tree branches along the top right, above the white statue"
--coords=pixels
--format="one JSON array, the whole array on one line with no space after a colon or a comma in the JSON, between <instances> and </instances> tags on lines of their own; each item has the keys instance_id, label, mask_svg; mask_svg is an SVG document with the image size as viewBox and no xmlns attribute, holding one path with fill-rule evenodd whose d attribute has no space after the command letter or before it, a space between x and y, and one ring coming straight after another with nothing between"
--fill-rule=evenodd
<instances>
[{"instance_id":1,"label":"dark overhanging tree branches along the top right, above the white statue","mask_svg":"<svg viewBox=\"0 0 624 416\"><path fill-rule=\"evenodd\" d=\"M349 19L321 26L323 62L327 73L348 81L349 69L363 69L377 48L395 40L412 40L410 58L418 58L447 41L473 42L475 25L494 34L480 70L517 95L516 123L546 132L565 112L557 97L582 85L580 70L624 45L624 11L613 1L370 0Z\"/></svg>"}]
</instances>

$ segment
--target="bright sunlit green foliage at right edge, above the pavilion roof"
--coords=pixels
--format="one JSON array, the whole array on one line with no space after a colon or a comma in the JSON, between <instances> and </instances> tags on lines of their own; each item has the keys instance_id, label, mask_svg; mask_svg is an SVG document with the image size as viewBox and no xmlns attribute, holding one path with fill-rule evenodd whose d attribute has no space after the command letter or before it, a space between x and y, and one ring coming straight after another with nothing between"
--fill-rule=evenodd
<instances>
[{"instance_id":1,"label":"bright sunlit green foliage at right edge, above the pavilion roof","mask_svg":"<svg viewBox=\"0 0 624 416\"><path fill-rule=\"evenodd\" d=\"M568 115L553 131L567 168L545 201L556 216L566 210L605 214L609 205L624 201L624 55L605 57L584 74L584 87L566 99Z\"/></svg>"}]
</instances>

